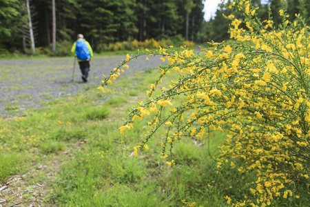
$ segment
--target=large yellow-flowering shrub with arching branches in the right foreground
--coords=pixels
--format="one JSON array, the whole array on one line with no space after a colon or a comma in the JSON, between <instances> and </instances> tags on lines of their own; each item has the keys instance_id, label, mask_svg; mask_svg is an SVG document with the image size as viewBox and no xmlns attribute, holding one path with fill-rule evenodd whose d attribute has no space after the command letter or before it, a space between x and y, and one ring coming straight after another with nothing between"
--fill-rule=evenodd
<instances>
[{"instance_id":1,"label":"large yellow-flowering shrub with arching branches in the right foreground","mask_svg":"<svg viewBox=\"0 0 310 207\"><path fill-rule=\"evenodd\" d=\"M310 36L302 18L289 22L280 10L283 24L260 21L250 1L236 0L229 6L243 13L231 19L231 43L210 43L198 55L184 48L145 50L139 55L161 55L166 66L147 91L149 101L138 103L128 116L121 133L133 128L136 119L152 116L141 148L160 127L167 128L162 142L163 159L167 146L180 137L203 137L209 131L226 132L216 158L219 171L227 163L238 173L254 172L255 182L245 184L249 197L243 200L225 196L233 206L269 206L279 198L298 199L294 186L305 184L310 176ZM138 56L139 56L138 55ZM127 57L117 68L127 66ZM161 95L153 96L156 85L169 72L179 76ZM105 87L120 75L117 70L103 80ZM186 101L174 101L183 95ZM161 114L169 108L169 115ZM184 117L190 113L185 121ZM135 148L138 154L137 148ZM172 153L172 150L170 150Z\"/></svg>"}]
</instances>

